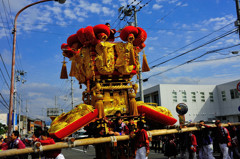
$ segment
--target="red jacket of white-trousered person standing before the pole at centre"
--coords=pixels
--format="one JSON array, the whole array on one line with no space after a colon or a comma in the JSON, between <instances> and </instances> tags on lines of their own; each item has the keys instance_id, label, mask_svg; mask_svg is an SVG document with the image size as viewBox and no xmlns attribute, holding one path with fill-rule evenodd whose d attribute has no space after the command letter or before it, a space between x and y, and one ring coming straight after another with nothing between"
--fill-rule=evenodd
<instances>
[{"instance_id":1,"label":"red jacket of white-trousered person standing before the pole at centre","mask_svg":"<svg viewBox=\"0 0 240 159\"><path fill-rule=\"evenodd\" d=\"M149 140L148 140L148 135L147 131L144 129L137 130L135 132L135 148L141 148L143 146L146 147L146 150L149 150Z\"/></svg>"}]
</instances>

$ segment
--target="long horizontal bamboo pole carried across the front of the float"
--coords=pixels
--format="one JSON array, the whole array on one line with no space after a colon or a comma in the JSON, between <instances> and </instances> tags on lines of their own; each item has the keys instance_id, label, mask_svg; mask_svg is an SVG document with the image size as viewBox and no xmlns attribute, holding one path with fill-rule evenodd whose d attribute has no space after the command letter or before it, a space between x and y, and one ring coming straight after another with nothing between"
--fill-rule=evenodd
<instances>
[{"instance_id":1,"label":"long horizontal bamboo pole carried across the front of the float","mask_svg":"<svg viewBox=\"0 0 240 159\"><path fill-rule=\"evenodd\" d=\"M214 124L208 124L209 126L216 127ZM240 125L240 123L231 123L231 126L234 125ZM226 127L228 124L222 124L222 126ZM160 135L167 135L167 134L176 134L176 133L183 133L183 132L189 132L189 131L198 131L200 130L199 127L187 127L182 129L161 129L161 130L152 130L148 131L148 134L151 134L151 136L160 136ZM123 141L123 140L129 140L129 135L123 135L123 136L115 136L117 141ZM86 139L79 139L75 140L72 143L68 142L57 142L52 145L45 145L42 146L42 151L49 151L49 150L55 150L55 149L63 149L63 148L69 148L69 147L76 147L76 146L84 146L84 145L95 145L95 144L101 144L101 143L108 143L112 141L112 137L99 137L99 138L86 138ZM7 156L13 156L13 155L21 155L21 154L27 154L27 153L39 153L40 149L34 150L32 147L27 147L25 149L11 149L11 150L5 150L0 151L0 157L7 157Z\"/></svg>"}]
</instances>

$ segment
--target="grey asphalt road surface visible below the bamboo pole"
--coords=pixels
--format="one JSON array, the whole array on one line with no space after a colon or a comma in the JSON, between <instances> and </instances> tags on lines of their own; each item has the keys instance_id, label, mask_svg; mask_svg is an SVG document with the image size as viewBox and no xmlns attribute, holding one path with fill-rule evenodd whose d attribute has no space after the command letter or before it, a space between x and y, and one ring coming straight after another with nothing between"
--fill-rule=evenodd
<instances>
[{"instance_id":1,"label":"grey asphalt road surface visible below the bamboo pole","mask_svg":"<svg viewBox=\"0 0 240 159\"><path fill-rule=\"evenodd\" d=\"M89 146L86 152L83 151L83 147L75 147L62 150L63 155L66 159L94 159L95 149L92 145ZM219 158L219 154L215 154L216 159ZM162 153L155 153L153 150L150 151L149 159L167 159ZM180 159L177 156L177 159Z\"/></svg>"}]
</instances>

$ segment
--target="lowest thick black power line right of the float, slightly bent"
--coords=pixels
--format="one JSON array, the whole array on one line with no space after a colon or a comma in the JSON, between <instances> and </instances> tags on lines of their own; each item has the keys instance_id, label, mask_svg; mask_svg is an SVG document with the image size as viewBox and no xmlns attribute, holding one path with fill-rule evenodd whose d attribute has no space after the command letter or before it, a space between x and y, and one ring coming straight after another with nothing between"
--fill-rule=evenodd
<instances>
[{"instance_id":1,"label":"lowest thick black power line right of the float, slightly bent","mask_svg":"<svg viewBox=\"0 0 240 159\"><path fill-rule=\"evenodd\" d=\"M160 73L151 75L151 76L149 76L148 78L145 78L143 81L146 82L146 81L148 81L148 79L151 78L151 77L158 76L158 75L160 75L160 74L163 74L163 73L165 73L165 72L171 71L171 70L176 69L176 68L178 68L178 67L180 67L180 66L183 66L183 65L185 65L185 64L189 64L189 63L195 61L196 59L199 59L199 58L201 58L201 57L203 57L203 56L205 56L205 55L207 55L207 54L211 54L211 53L214 53L214 52L217 52L217 51L229 49L229 48L236 47L236 46L239 46L239 45L240 45L240 44L236 44L236 45L224 47L224 48L221 48L221 49L216 49L216 50L208 51L208 52L206 52L206 53L204 53L204 54L202 54L202 55L200 55L200 56L198 56L198 57L195 57L195 58L193 58L193 59L191 59L191 60L188 60L188 61L186 61L186 62L184 62L184 63L182 63L182 64L180 64L180 65L177 65L177 66L175 66L175 67L169 68L169 69L167 69L167 70L165 70L165 71L162 71L162 72L160 72Z\"/></svg>"}]
</instances>

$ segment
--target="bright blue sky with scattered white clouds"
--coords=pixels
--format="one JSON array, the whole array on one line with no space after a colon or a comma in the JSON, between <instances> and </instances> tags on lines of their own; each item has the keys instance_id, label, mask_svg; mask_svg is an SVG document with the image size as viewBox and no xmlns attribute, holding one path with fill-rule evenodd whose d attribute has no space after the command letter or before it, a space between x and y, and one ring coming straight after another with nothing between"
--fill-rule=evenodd
<instances>
[{"instance_id":1,"label":"bright blue sky with scattered white clouds","mask_svg":"<svg viewBox=\"0 0 240 159\"><path fill-rule=\"evenodd\" d=\"M0 93L7 103L10 85L7 72L9 74L11 72L13 17L22 7L32 2L35 1L0 2L0 54L7 68L5 69L0 59L0 68L4 75L0 74ZM137 5L137 8L142 6L137 13L137 20L138 26L148 33L144 50L150 67L235 29L233 22L237 16L233 0L67 0L65 4L50 1L32 6L22 12L17 21L16 69L27 72L25 76L27 82L17 83L18 93L23 99L23 114L26 114L28 100L30 116L47 119L46 108L54 107L55 96L58 106L65 111L71 108L70 81L59 79L63 59L61 44L66 42L68 36L88 25L109 22L117 30L124 27L127 22L133 21L133 18L127 17L120 21L118 8L126 7L128 4ZM224 28L220 29L222 27ZM204 36L206 37L203 38ZM197 41L200 38L201 40ZM191 44L194 41L197 42ZM150 72L144 73L143 78L176 67L208 51L238 43L239 35L232 33L155 67ZM188 44L191 45L184 47ZM179 50L182 47L184 48ZM203 56L198 59L203 60L202 62L192 62L161 75L152 76L144 83L144 88L160 83L220 84L237 80L240 77L238 71L240 58L231 54L234 50L239 50L239 46ZM81 92L75 80L75 104L81 102ZM8 112L1 103L0 110L0 113Z\"/></svg>"}]
</instances>

